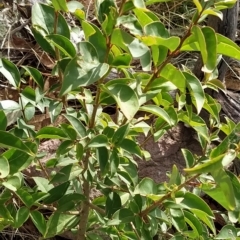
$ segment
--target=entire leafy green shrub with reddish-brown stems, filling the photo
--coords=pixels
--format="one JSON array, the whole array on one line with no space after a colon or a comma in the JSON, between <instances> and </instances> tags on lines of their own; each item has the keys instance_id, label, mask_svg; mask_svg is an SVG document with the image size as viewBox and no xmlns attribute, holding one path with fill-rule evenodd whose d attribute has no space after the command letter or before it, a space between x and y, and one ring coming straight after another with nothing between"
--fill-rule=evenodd
<instances>
[{"instance_id":1,"label":"entire leafy green shrub with reddish-brown stems, filling the photo","mask_svg":"<svg viewBox=\"0 0 240 240\"><path fill-rule=\"evenodd\" d=\"M219 10L236 1L194 0L196 11L183 37L170 36L146 8L159 2L167 0L130 0L120 5L98 0L94 22L85 19L77 1L33 5L33 35L55 59L53 74L58 83L45 89L41 72L23 66L36 87L22 89L18 68L0 59L0 72L21 93L19 103L0 102L1 230L19 228L31 219L46 239L68 230L76 232L78 239L102 239L97 233L114 240L148 240L156 234L162 239L239 239L235 223L240 219L240 182L226 167L240 156L240 124L230 119L221 123L220 105L205 89L223 90L216 77L219 58L223 54L240 59L240 48L199 24L207 15L221 18ZM66 13L77 18L84 33L85 40L76 45ZM204 82L171 63L186 51L201 54ZM133 61L139 61L139 71L132 70ZM51 97L53 91L59 96ZM80 107L71 108L68 100ZM116 117L103 111L106 106L114 106ZM36 109L44 112L45 108L55 125L36 131L29 121ZM209 124L199 115L203 109ZM144 117L139 118L138 112ZM62 113L65 122L57 125ZM137 161L149 154L137 137L152 135L158 140L180 122L196 131L202 155L182 149L186 168L182 174L174 165L168 182L139 179ZM38 153L44 139L61 140L55 158L45 165ZM31 164L43 172L32 177L35 186L24 180L23 170ZM94 199L92 189L100 193ZM226 225L220 231L203 194L225 210ZM48 209L48 215L43 209Z\"/></svg>"}]
</instances>

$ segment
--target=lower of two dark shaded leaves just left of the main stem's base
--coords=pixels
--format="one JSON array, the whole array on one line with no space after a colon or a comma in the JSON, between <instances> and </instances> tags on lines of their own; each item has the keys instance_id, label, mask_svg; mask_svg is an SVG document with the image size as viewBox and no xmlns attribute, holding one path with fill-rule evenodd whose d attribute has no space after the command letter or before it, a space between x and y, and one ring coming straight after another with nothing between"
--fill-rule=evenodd
<instances>
[{"instance_id":1,"label":"lower of two dark shaded leaves just left of the main stem's base","mask_svg":"<svg viewBox=\"0 0 240 240\"><path fill-rule=\"evenodd\" d=\"M59 200L61 197L64 196L66 193L68 187L70 185L70 182L64 182L57 187L54 187L48 191L49 196L43 199L43 202L45 204L50 204L53 202L56 202Z\"/></svg>"}]
</instances>

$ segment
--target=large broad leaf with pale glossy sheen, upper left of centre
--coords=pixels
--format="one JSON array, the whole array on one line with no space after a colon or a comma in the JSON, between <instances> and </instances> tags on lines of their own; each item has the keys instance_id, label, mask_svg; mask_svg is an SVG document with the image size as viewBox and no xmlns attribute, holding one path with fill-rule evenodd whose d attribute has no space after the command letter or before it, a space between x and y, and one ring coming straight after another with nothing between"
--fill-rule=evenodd
<instances>
[{"instance_id":1,"label":"large broad leaf with pale glossy sheen, upper left of centre","mask_svg":"<svg viewBox=\"0 0 240 240\"><path fill-rule=\"evenodd\" d=\"M89 86L100 80L108 72L106 63L86 62L80 57L73 58L67 65L60 96L69 93L80 86Z\"/></svg>"}]
</instances>

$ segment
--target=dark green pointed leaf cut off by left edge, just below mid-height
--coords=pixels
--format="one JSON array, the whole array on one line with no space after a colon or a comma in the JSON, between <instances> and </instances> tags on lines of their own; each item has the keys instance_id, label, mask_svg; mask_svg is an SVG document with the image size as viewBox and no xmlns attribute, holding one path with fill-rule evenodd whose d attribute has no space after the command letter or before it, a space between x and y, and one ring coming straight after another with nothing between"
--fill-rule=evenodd
<instances>
[{"instance_id":1,"label":"dark green pointed leaf cut off by left edge, just below mid-height","mask_svg":"<svg viewBox=\"0 0 240 240\"><path fill-rule=\"evenodd\" d=\"M29 149L20 138L14 135L0 130L0 146L5 148L15 148L20 151L26 152L30 156L35 156L35 154Z\"/></svg>"}]
</instances>

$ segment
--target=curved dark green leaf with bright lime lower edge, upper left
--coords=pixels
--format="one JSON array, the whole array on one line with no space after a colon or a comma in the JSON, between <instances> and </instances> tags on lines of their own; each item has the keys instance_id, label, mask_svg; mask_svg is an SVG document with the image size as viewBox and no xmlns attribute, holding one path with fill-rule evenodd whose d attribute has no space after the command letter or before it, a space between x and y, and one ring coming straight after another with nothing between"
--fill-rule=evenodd
<instances>
[{"instance_id":1,"label":"curved dark green leaf with bright lime lower edge, upper left","mask_svg":"<svg viewBox=\"0 0 240 240\"><path fill-rule=\"evenodd\" d=\"M76 49L68 38L59 34L51 34L47 35L46 39L67 57L74 58L76 56Z\"/></svg>"}]
</instances>

